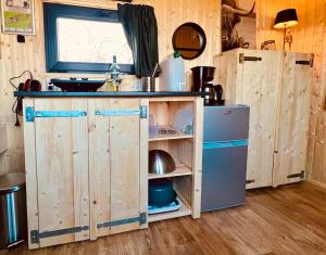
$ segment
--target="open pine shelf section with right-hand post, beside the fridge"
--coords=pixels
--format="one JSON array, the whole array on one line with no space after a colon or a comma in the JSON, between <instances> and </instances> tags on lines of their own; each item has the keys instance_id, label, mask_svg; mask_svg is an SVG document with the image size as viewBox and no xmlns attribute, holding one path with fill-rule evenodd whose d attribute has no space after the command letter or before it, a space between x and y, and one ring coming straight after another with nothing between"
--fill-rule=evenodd
<instances>
[{"instance_id":1,"label":"open pine shelf section with right-hand post, beside the fridge","mask_svg":"<svg viewBox=\"0 0 326 255\"><path fill-rule=\"evenodd\" d=\"M174 190L183 200L184 206L178 212L150 216L150 221L190 214L192 218L200 217L203 99L150 99L149 119L151 126L168 125L174 127L174 122L177 119L178 113L185 110L193 113L193 136L186 139L166 139L149 142L149 150L166 151L176 162L176 171L166 175L166 177L173 177ZM153 176L154 175L149 175L149 178L151 179Z\"/></svg>"}]
</instances>

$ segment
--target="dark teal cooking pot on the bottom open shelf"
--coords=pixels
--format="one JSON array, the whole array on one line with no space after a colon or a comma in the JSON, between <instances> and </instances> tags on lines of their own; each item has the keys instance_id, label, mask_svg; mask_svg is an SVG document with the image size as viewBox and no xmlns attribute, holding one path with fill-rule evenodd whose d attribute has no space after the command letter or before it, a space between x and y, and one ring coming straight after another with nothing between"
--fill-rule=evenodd
<instances>
[{"instance_id":1,"label":"dark teal cooking pot on the bottom open shelf","mask_svg":"<svg viewBox=\"0 0 326 255\"><path fill-rule=\"evenodd\" d=\"M149 206L162 207L171 204L176 199L173 182L166 178L150 180L148 196Z\"/></svg>"}]
</instances>

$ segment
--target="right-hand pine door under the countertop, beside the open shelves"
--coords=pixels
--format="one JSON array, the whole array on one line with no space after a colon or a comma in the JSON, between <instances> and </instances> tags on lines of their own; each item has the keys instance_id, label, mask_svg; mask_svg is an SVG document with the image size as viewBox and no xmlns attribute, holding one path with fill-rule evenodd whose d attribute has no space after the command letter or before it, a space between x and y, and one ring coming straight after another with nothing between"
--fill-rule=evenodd
<instances>
[{"instance_id":1,"label":"right-hand pine door under the countertop, beside the open shelves","mask_svg":"<svg viewBox=\"0 0 326 255\"><path fill-rule=\"evenodd\" d=\"M89 110L93 240L140 228L141 122L139 99L93 99Z\"/></svg>"}]
</instances>

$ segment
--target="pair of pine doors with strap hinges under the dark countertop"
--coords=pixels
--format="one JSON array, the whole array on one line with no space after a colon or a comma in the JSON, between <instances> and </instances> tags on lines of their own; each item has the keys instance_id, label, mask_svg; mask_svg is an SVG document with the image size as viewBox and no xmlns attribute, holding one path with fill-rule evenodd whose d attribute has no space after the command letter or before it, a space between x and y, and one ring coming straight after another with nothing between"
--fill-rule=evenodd
<instances>
[{"instance_id":1,"label":"pair of pine doors with strap hinges under the dark countertop","mask_svg":"<svg viewBox=\"0 0 326 255\"><path fill-rule=\"evenodd\" d=\"M140 101L24 100L30 248L147 226L148 101Z\"/></svg>"}]
</instances>

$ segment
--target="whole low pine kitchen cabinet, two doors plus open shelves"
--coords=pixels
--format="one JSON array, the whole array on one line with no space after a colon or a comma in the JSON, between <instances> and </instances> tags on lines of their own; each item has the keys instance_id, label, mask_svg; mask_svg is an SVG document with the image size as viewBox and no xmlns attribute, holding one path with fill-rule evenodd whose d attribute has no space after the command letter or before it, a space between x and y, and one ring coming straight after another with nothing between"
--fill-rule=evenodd
<instances>
[{"instance_id":1,"label":"whole low pine kitchen cabinet, two doors plus open shelves","mask_svg":"<svg viewBox=\"0 0 326 255\"><path fill-rule=\"evenodd\" d=\"M180 109L192 132L149 137L149 113L172 125ZM24 99L28 247L96 240L148 227L148 221L200 217L201 98ZM148 151L177 163L167 176L148 174ZM148 181L174 178L184 205L148 217Z\"/></svg>"}]
</instances>

